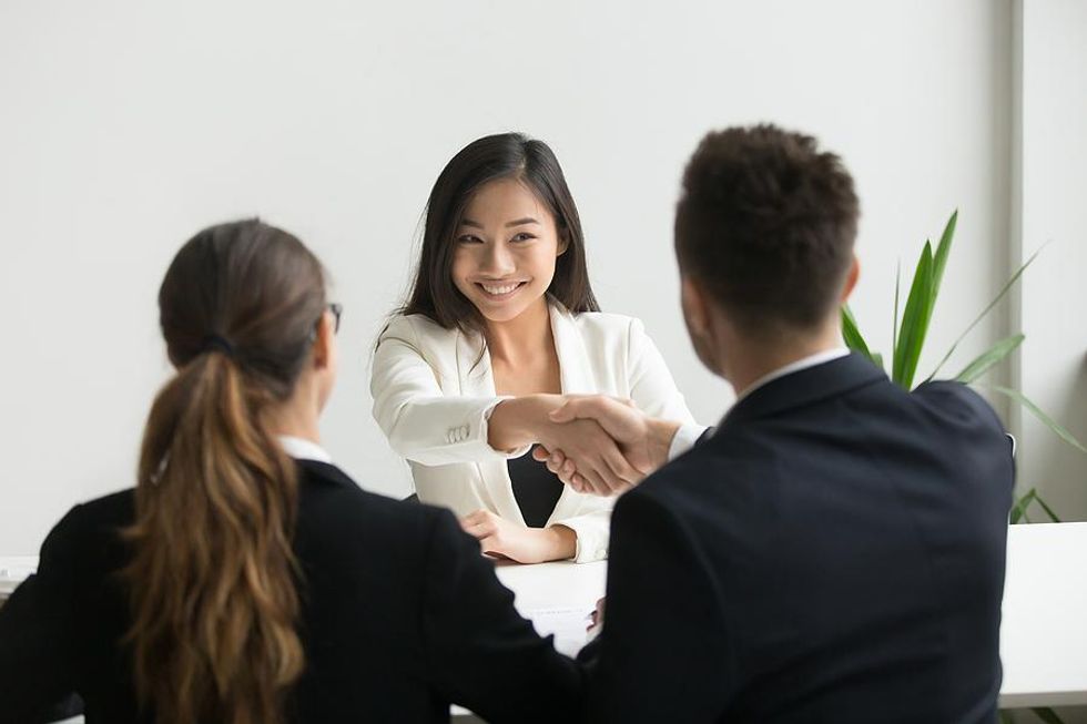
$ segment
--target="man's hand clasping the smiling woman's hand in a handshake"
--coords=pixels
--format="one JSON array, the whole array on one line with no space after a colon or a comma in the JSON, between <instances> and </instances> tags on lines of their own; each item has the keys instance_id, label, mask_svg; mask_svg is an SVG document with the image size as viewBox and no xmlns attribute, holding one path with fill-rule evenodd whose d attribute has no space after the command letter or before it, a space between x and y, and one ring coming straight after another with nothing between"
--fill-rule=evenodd
<instances>
[{"instance_id":1,"label":"man's hand clasping the smiling woman's hand in a handshake","mask_svg":"<svg viewBox=\"0 0 1087 724\"><path fill-rule=\"evenodd\" d=\"M633 406L630 400L618 400L610 397L589 396L570 399L562 407L550 412L549 417L556 422L569 424L576 420L595 420L618 443L622 456L638 471L638 479L631 480L630 486L640 482L668 461L668 449L679 429L678 422L669 422L647 416ZM558 446L537 447L532 457L547 462L548 469L557 475L562 482L579 492L596 494L614 494L621 492L611 488L602 488L579 470L571 456Z\"/></svg>"}]
</instances>

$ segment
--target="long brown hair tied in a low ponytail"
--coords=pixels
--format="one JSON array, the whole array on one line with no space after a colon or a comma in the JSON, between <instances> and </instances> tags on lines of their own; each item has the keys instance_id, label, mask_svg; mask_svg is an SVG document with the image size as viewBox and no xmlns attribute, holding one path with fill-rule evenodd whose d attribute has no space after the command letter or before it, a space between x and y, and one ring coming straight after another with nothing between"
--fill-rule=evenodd
<instances>
[{"instance_id":1,"label":"long brown hair tied in a low ponytail","mask_svg":"<svg viewBox=\"0 0 1087 724\"><path fill-rule=\"evenodd\" d=\"M201 232L162 282L177 373L144 430L123 572L136 693L159 724L274 724L302 672L295 467L266 418L324 309L319 262L260 221Z\"/></svg>"}]
</instances>

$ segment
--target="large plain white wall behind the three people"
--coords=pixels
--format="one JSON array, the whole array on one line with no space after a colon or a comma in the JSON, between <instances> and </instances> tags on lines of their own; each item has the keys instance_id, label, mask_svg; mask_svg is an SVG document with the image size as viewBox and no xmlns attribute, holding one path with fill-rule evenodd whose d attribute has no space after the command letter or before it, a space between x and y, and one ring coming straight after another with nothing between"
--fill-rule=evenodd
<instances>
[{"instance_id":1,"label":"large plain white wall behind the three people","mask_svg":"<svg viewBox=\"0 0 1087 724\"><path fill-rule=\"evenodd\" d=\"M843 154L854 306L884 350L895 262L961 208L936 357L1007 272L1009 27L991 0L0 4L0 553L131 485L167 374L161 276L196 230L251 214L305 239L345 305L327 447L405 493L365 360L436 174L495 131L552 145L599 297L646 320L700 419L730 394L685 339L670 230L710 128L772 120ZM1003 333L987 322L958 364Z\"/></svg>"}]
</instances>

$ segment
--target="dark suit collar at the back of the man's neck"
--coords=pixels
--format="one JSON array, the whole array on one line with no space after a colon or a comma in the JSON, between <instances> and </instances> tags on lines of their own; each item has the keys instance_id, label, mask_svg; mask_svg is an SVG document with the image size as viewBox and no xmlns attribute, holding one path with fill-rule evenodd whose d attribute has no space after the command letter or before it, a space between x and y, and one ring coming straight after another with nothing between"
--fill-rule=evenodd
<instances>
[{"instance_id":1,"label":"dark suit collar at the back of the man's neck","mask_svg":"<svg viewBox=\"0 0 1087 724\"><path fill-rule=\"evenodd\" d=\"M770 380L752 390L729 410L721 420L721 428L811 405L886 378L882 369L861 355L839 357Z\"/></svg>"}]
</instances>

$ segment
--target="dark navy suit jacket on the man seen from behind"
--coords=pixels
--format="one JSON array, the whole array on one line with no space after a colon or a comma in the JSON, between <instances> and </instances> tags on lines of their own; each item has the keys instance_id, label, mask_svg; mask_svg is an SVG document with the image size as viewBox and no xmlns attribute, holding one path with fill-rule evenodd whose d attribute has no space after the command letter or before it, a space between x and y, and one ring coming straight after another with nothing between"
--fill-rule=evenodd
<instances>
[{"instance_id":1,"label":"dark navy suit jacket on the man seen from behind","mask_svg":"<svg viewBox=\"0 0 1087 724\"><path fill-rule=\"evenodd\" d=\"M769 383L623 496L593 722L993 722L1013 462L954 383Z\"/></svg>"}]
</instances>

